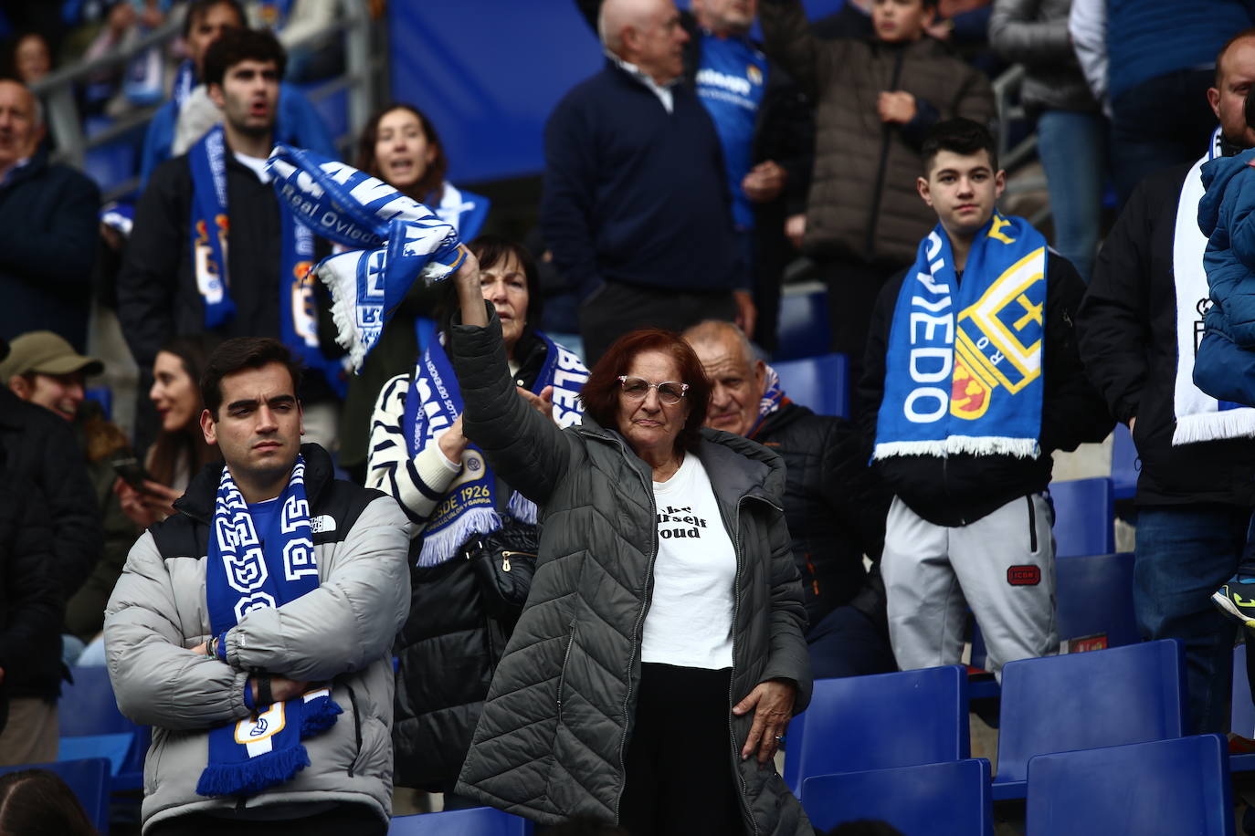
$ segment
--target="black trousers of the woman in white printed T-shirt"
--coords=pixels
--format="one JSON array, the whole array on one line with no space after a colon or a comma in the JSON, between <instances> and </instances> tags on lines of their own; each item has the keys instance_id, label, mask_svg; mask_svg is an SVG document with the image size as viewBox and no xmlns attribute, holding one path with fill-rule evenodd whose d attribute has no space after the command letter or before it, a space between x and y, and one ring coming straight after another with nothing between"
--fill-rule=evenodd
<instances>
[{"instance_id":1,"label":"black trousers of the woman in white printed T-shirt","mask_svg":"<svg viewBox=\"0 0 1255 836\"><path fill-rule=\"evenodd\" d=\"M619 823L633 836L745 832L732 766L730 678L730 668L641 664L619 805Z\"/></svg>"}]
</instances>

